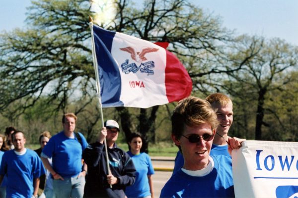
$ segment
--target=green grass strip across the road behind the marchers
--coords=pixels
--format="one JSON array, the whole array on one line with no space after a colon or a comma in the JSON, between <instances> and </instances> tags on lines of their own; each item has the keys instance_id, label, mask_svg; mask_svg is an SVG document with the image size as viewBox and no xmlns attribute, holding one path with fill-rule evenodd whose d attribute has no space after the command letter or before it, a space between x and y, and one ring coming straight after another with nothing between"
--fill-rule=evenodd
<instances>
[{"instance_id":1,"label":"green grass strip across the road behind the marchers","mask_svg":"<svg viewBox=\"0 0 298 198\"><path fill-rule=\"evenodd\" d=\"M126 143L119 143L117 145L118 145L118 147L122 148L125 151L128 150L128 145ZM39 148L40 146L38 144L28 144L25 147L35 150L35 149ZM164 142L164 143L157 143L157 144L149 144L149 155L150 156L174 157L174 156L176 156L177 151L178 151L178 148L171 143Z\"/></svg>"}]
</instances>

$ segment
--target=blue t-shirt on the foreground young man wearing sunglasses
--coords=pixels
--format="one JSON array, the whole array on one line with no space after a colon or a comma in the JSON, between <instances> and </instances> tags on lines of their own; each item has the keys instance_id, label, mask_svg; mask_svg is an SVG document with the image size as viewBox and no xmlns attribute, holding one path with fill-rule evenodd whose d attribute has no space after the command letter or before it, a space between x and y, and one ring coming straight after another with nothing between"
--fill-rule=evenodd
<instances>
[{"instance_id":1,"label":"blue t-shirt on the foreground young man wearing sunglasses","mask_svg":"<svg viewBox=\"0 0 298 198\"><path fill-rule=\"evenodd\" d=\"M160 198L235 197L231 158L225 155L210 156L214 160L214 168L208 175L194 177L180 169L164 185Z\"/></svg>"}]
</instances>

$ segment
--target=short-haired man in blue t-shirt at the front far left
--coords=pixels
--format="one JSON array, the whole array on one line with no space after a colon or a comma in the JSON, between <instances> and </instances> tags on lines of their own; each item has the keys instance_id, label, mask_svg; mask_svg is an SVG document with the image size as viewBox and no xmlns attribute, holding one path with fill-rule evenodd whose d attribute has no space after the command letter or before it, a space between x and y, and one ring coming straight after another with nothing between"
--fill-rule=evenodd
<instances>
[{"instance_id":1,"label":"short-haired man in blue t-shirt at the front far left","mask_svg":"<svg viewBox=\"0 0 298 198\"><path fill-rule=\"evenodd\" d=\"M6 198L37 198L39 178L45 168L36 152L25 148L26 139L22 131L12 134L13 150L3 154L0 166L0 183L4 175Z\"/></svg>"}]
</instances>

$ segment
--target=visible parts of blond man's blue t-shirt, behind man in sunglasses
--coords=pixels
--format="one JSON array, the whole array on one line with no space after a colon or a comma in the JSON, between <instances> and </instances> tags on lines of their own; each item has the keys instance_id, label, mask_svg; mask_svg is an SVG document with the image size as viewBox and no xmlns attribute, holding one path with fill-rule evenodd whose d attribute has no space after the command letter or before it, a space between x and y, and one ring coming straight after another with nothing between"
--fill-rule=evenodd
<instances>
[{"instance_id":1,"label":"visible parts of blond man's blue t-shirt, behind man in sunglasses","mask_svg":"<svg viewBox=\"0 0 298 198\"><path fill-rule=\"evenodd\" d=\"M228 152L227 145L224 145L224 146L212 145L210 150L210 155L225 155L225 156L231 157L231 155ZM173 174L175 174L178 170L180 170L183 167L183 165L184 165L183 155L181 154L180 150L178 150L175 158Z\"/></svg>"}]
</instances>

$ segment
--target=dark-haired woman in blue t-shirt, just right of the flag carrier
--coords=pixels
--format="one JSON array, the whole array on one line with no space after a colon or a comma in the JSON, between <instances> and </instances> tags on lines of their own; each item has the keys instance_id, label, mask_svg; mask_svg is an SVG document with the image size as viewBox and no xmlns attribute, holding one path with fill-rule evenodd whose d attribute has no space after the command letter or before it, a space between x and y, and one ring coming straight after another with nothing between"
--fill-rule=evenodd
<instances>
[{"instance_id":1,"label":"dark-haired woman in blue t-shirt, just right of the flag carrier","mask_svg":"<svg viewBox=\"0 0 298 198\"><path fill-rule=\"evenodd\" d=\"M125 195L128 198L154 198L153 183L151 175L154 169L149 155L142 150L143 139L141 134L132 133L128 139L129 156L133 159L136 167L136 181L134 185L128 186Z\"/></svg>"}]
</instances>

